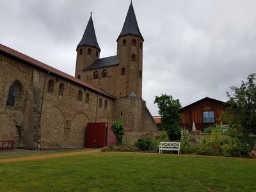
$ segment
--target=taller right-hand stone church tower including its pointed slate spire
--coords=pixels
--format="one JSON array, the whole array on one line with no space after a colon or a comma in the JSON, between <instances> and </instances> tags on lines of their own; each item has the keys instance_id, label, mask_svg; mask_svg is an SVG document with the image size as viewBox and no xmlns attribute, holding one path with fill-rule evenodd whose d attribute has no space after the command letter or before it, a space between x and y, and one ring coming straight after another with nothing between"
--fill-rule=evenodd
<instances>
[{"instance_id":1,"label":"taller right-hand stone church tower including its pointed slate spire","mask_svg":"<svg viewBox=\"0 0 256 192\"><path fill-rule=\"evenodd\" d=\"M128 96L132 92L137 97L142 97L143 41L131 2L124 26L116 40L117 58L120 62L120 97Z\"/></svg>"}]
</instances>

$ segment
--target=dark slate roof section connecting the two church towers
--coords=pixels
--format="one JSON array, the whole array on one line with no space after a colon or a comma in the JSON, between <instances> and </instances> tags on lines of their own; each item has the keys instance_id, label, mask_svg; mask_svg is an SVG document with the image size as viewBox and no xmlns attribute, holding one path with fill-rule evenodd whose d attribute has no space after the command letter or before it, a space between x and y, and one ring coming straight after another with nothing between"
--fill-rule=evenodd
<instances>
[{"instance_id":1,"label":"dark slate roof section connecting the two church towers","mask_svg":"<svg viewBox=\"0 0 256 192\"><path fill-rule=\"evenodd\" d=\"M92 65L89 65L88 67L84 68L84 70L92 70L92 69L102 68L102 67L111 67L114 65L119 65L116 55L96 60L94 63L92 63Z\"/></svg>"}]
</instances>

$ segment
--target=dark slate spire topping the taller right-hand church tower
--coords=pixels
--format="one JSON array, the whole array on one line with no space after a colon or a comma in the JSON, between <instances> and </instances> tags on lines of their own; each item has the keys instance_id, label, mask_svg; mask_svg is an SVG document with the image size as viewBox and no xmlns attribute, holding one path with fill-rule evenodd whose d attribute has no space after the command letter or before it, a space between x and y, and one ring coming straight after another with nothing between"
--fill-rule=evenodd
<instances>
[{"instance_id":1,"label":"dark slate spire topping the taller right-hand church tower","mask_svg":"<svg viewBox=\"0 0 256 192\"><path fill-rule=\"evenodd\" d=\"M140 33L140 29L139 29L137 19L136 19L135 13L134 13L132 2L129 6L129 10L128 10L128 13L125 18L123 29L122 29L120 35L118 36L118 38L120 38L120 36L124 36L124 35L140 36L140 38L144 41L143 36Z\"/></svg>"}]
</instances>

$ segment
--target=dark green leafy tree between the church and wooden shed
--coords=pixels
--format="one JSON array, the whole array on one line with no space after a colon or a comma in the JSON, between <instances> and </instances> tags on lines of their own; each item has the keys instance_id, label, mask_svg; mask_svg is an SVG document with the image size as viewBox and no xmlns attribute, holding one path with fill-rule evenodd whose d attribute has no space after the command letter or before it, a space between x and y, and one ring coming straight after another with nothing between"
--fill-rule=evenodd
<instances>
[{"instance_id":1,"label":"dark green leafy tree between the church and wooden shed","mask_svg":"<svg viewBox=\"0 0 256 192\"><path fill-rule=\"evenodd\" d=\"M180 140L181 128L179 122L181 115L178 110L181 108L179 99L173 99L172 95L161 94L160 97L155 96L154 103L157 103L158 113L161 115L160 129L168 133L171 141Z\"/></svg>"}]
</instances>

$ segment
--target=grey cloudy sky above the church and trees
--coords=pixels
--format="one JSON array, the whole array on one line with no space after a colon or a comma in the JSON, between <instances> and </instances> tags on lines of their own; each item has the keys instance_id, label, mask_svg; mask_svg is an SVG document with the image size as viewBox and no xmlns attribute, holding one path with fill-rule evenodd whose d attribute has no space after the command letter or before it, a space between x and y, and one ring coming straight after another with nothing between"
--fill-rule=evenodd
<instances>
[{"instance_id":1,"label":"grey cloudy sky above the church and trees","mask_svg":"<svg viewBox=\"0 0 256 192\"><path fill-rule=\"evenodd\" d=\"M76 46L93 13L100 57L116 54L130 1L0 1L0 43L74 76ZM186 106L227 100L256 72L256 1L133 0L143 45L143 99L167 93Z\"/></svg>"}]
</instances>

